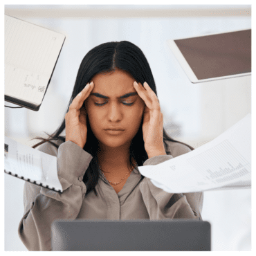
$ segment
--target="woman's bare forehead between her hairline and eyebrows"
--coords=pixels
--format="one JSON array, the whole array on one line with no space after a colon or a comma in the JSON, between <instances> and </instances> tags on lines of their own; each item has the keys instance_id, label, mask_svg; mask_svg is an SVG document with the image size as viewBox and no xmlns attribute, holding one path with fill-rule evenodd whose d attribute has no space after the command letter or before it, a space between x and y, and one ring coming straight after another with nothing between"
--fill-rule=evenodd
<instances>
[{"instance_id":1,"label":"woman's bare forehead between her hairline and eyebrows","mask_svg":"<svg viewBox=\"0 0 256 256\"><path fill-rule=\"evenodd\" d=\"M125 71L111 71L98 73L92 79L94 83L91 93L101 93L107 96L120 96L125 93L136 91L134 89L134 77Z\"/></svg>"}]
</instances>

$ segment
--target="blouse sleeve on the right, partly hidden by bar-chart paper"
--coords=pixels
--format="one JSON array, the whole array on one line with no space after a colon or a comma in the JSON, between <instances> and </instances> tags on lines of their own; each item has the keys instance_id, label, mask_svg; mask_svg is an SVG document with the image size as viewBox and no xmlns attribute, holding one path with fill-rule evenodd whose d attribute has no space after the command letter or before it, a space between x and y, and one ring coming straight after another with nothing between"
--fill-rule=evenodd
<instances>
[{"instance_id":1,"label":"blouse sleeve on the right, partly hidden by bar-chart paper","mask_svg":"<svg viewBox=\"0 0 256 256\"><path fill-rule=\"evenodd\" d=\"M174 156L190 152L191 149L189 147L180 145L177 145L176 148L171 150ZM174 156L154 156L147 159L143 165L158 165L159 163L172 159ZM143 201L145 202L150 219L203 220L201 217L203 192L168 193L161 188L157 188L147 177L140 183L140 192L142 193Z\"/></svg>"}]
</instances>

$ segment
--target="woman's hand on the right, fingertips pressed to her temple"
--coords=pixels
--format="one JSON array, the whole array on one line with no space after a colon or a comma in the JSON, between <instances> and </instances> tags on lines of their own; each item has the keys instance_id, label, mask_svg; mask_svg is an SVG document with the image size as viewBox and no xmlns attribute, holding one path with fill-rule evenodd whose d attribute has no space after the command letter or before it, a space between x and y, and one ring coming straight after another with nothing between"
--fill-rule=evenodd
<instances>
[{"instance_id":1,"label":"woman's hand on the right, fingertips pressed to her temple","mask_svg":"<svg viewBox=\"0 0 256 256\"><path fill-rule=\"evenodd\" d=\"M149 158L166 155L163 145L163 113L156 93L147 82L144 82L144 87L134 82L134 88L146 104L143 112L143 140L147 155Z\"/></svg>"}]
</instances>

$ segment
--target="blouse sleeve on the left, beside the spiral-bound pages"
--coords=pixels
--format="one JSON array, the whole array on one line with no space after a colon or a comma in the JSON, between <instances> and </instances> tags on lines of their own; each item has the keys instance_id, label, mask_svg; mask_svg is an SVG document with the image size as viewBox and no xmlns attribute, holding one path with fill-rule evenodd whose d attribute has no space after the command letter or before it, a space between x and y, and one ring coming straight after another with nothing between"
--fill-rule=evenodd
<instances>
[{"instance_id":1,"label":"blouse sleeve on the left, beside the spiral-bound pages","mask_svg":"<svg viewBox=\"0 0 256 256\"><path fill-rule=\"evenodd\" d=\"M24 216L18 233L28 250L51 250L51 223L55 219L76 219L86 193L83 176L93 158L71 141L57 149L44 143L39 150L57 156L57 175L63 192L25 182Z\"/></svg>"}]
</instances>

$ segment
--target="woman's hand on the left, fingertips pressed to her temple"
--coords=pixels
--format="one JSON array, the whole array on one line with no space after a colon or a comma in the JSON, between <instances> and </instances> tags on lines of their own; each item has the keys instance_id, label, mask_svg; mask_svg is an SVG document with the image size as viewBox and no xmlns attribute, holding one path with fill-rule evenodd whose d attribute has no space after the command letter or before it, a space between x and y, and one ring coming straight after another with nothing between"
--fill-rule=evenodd
<instances>
[{"instance_id":1,"label":"woman's hand on the left, fingertips pressed to her temple","mask_svg":"<svg viewBox=\"0 0 256 256\"><path fill-rule=\"evenodd\" d=\"M93 82L86 84L84 89L73 99L65 116L66 141L71 140L82 149L87 137L86 109L82 105L93 90L93 86Z\"/></svg>"}]
</instances>

